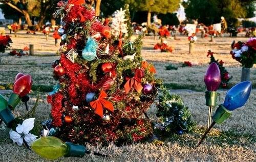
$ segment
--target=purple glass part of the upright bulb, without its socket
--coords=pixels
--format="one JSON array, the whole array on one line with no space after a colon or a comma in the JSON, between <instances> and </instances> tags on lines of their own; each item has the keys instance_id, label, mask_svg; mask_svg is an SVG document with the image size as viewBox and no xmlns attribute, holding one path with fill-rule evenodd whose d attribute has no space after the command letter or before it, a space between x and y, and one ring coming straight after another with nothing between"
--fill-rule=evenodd
<instances>
[{"instance_id":1,"label":"purple glass part of the upright bulb, without its socket","mask_svg":"<svg viewBox=\"0 0 256 162\"><path fill-rule=\"evenodd\" d=\"M211 63L204 75L204 83L208 91L217 91L221 84L221 72L216 63Z\"/></svg>"}]
</instances>

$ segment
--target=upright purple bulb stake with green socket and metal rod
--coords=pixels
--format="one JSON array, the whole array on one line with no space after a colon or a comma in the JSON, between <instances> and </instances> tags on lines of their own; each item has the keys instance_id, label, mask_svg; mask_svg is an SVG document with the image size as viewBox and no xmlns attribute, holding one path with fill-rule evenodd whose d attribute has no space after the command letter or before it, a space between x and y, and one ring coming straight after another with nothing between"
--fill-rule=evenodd
<instances>
[{"instance_id":1,"label":"upright purple bulb stake with green socket and metal rod","mask_svg":"<svg viewBox=\"0 0 256 162\"><path fill-rule=\"evenodd\" d=\"M208 67L205 75L204 75L204 83L207 87L207 91L205 92L205 100L206 105L209 106L209 114L208 114L208 128L210 127L210 117L212 107L217 105L217 96L216 92L221 84L221 73L218 65L216 63L211 63Z\"/></svg>"}]
</instances>

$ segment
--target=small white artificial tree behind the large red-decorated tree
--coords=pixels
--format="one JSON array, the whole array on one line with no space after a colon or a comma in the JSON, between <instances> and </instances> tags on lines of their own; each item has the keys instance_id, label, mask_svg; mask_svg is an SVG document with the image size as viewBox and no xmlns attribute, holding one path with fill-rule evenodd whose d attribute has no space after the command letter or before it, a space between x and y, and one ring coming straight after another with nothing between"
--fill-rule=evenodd
<instances>
[{"instance_id":1,"label":"small white artificial tree behind the large red-decorated tree","mask_svg":"<svg viewBox=\"0 0 256 162\"><path fill-rule=\"evenodd\" d=\"M120 10L115 11L113 14L112 30L115 36L119 36L120 32L124 34L127 33L127 24L125 23L127 19L125 19L125 11L126 10L121 8Z\"/></svg>"}]
</instances>

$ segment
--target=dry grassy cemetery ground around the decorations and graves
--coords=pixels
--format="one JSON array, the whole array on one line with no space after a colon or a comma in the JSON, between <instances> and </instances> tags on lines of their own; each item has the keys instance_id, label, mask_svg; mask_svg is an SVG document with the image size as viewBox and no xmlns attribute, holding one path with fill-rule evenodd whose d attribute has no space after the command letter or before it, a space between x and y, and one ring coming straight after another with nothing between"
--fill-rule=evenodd
<instances>
[{"instance_id":1,"label":"dry grassy cemetery ground around the decorations and graves","mask_svg":"<svg viewBox=\"0 0 256 162\"><path fill-rule=\"evenodd\" d=\"M210 38L199 38L195 44L192 54L188 54L189 42L186 36L177 34L179 40L167 39L168 45L172 46L172 53L160 52L153 47L160 40L154 40L153 36L143 38L142 56L155 65L157 77L163 79L163 83L170 89L170 93L181 95L184 104L188 106L193 120L197 123L194 132L174 135L166 139L163 144L133 144L130 146L116 147L111 144L109 147L91 146L90 149L110 155L103 158L96 155L85 155L83 158L60 158L57 161L254 161L256 150L256 69L255 65L250 71L250 80L253 90L247 103L236 111L233 111L231 118L223 124L212 129L206 140L200 147L195 146L205 131L208 117L208 107L205 105L204 92L206 90L203 77L207 69L209 58L206 57L208 49L215 52L216 59L224 61L224 66L230 75L233 76L228 87L240 82L241 66L229 54L230 44L233 40L247 41L248 38L230 38L227 35L223 38L215 38L215 42L209 42ZM199 37L199 35L198 35ZM29 108L31 109L38 97L38 104L35 112L36 125L40 121L48 119L51 106L46 101L47 93L57 84L52 77L52 62L58 59L55 54L59 46L54 46L54 39L41 33L36 35L26 35L24 31L18 32L17 37L11 35L13 43L11 50L23 49L29 44L34 44L35 56L14 57L8 52L2 53L2 64L0 65L0 89L10 90L15 75L18 72L29 73L33 78L33 87ZM181 67L184 61L193 64L192 67ZM166 70L165 66L173 64L177 70ZM221 98L218 103L222 103L225 98L226 89L221 89ZM3 91L0 91L2 93ZM9 97L11 91L4 91L4 96ZM215 112L216 108L214 109ZM155 107L147 112L154 120ZM24 115L26 109L24 104L19 105L14 114ZM0 131L0 158L3 161L48 161L37 156L25 147L18 147L9 139L8 129L1 128ZM39 131L39 129L38 129Z\"/></svg>"}]
</instances>

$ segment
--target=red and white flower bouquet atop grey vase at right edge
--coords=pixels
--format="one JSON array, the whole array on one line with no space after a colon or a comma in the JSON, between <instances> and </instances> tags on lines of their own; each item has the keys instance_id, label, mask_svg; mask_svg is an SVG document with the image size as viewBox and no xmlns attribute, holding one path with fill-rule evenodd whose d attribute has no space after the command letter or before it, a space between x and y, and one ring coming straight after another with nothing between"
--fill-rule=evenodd
<instances>
[{"instance_id":1,"label":"red and white flower bouquet atop grey vase at right edge","mask_svg":"<svg viewBox=\"0 0 256 162\"><path fill-rule=\"evenodd\" d=\"M256 38L250 38L246 43L233 42L230 54L245 68L251 68L256 63Z\"/></svg>"}]
</instances>

